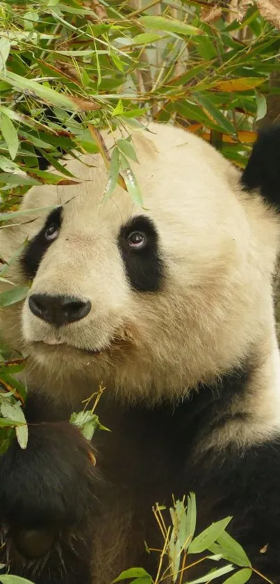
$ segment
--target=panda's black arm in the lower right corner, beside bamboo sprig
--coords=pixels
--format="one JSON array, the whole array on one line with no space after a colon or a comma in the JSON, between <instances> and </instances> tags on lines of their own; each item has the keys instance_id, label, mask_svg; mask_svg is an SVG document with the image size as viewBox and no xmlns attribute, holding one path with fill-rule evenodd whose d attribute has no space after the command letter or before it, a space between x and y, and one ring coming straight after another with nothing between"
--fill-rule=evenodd
<instances>
[{"instance_id":1,"label":"panda's black arm in the lower right corner, beside bamboo sprig","mask_svg":"<svg viewBox=\"0 0 280 584\"><path fill-rule=\"evenodd\" d=\"M233 516L229 532L242 544L252 566L277 583L280 575L279 440L243 451L229 446L224 452L206 452L197 464L193 468L192 487L198 502L204 500L208 507L212 499L211 521ZM260 579L255 578L258 583Z\"/></svg>"}]
</instances>

